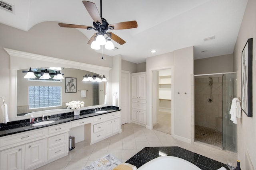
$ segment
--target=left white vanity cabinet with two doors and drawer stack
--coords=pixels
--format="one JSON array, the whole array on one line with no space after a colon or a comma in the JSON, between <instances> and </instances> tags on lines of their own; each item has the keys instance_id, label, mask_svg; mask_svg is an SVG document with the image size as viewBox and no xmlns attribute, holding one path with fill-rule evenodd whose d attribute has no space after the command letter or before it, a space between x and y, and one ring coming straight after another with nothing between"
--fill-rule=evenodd
<instances>
[{"instance_id":1,"label":"left white vanity cabinet with two doors and drawer stack","mask_svg":"<svg viewBox=\"0 0 256 170\"><path fill-rule=\"evenodd\" d=\"M68 131L63 123L0 137L0 169L33 170L66 156Z\"/></svg>"}]
</instances>

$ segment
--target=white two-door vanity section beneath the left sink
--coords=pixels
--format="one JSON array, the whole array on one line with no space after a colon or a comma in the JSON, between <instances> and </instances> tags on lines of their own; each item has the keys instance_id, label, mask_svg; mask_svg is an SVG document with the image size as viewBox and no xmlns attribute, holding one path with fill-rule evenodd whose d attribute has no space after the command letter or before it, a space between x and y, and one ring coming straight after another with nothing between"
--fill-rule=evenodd
<instances>
[{"instance_id":1,"label":"white two-door vanity section beneath the left sink","mask_svg":"<svg viewBox=\"0 0 256 170\"><path fill-rule=\"evenodd\" d=\"M1 137L1 170L24 170L44 163L46 134L46 129L40 129Z\"/></svg>"}]
</instances>

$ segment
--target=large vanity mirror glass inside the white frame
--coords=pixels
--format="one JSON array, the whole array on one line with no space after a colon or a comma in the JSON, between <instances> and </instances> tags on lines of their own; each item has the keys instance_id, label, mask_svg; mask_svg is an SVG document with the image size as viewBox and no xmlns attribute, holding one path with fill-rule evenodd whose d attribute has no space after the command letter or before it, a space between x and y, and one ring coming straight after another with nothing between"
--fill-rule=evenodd
<instances>
[{"instance_id":1,"label":"large vanity mirror glass inside the white frame","mask_svg":"<svg viewBox=\"0 0 256 170\"><path fill-rule=\"evenodd\" d=\"M38 70L49 68L40 68ZM62 68L61 80L24 78L28 69L17 70L17 116L52 109L65 109L72 100L83 101L84 106L106 104L106 82L82 81L83 76L99 77L93 72L76 68ZM70 85L72 84L72 86ZM69 91L68 88L72 88Z\"/></svg>"}]
</instances>

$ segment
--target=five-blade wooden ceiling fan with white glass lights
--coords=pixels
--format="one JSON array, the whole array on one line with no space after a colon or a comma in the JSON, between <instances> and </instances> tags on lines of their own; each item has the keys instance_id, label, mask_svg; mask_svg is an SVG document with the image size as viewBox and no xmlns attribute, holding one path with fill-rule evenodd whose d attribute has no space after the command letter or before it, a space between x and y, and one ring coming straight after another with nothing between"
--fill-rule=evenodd
<instances>
[{"instance_id":1,"label":"five-blade wooden ceiling fan with white glass lights","mask_svg":"<svg viewBox=\"0 0 256 170\"><path fill-rule=\"evenodd\" d=\"M96 43L97 44L97 49L98 49L98 47L100 49L100 45L105 45L111 39L116 41L120 45L123 45L126 42L122 38L118 37L116 34L108 31L108 29L117 30L117 29L130 29L130 28L138 27L138 24L137 24L136 21L126 21L126 22L119 22L119 23L109 24L106 19L102 18L102 0L100 0L100 14L98 12L98 9L97 9L96 5L93 2L89 2L89 1L82 1L82 2L84 4L86 10L88 11L88 13L90 14L90 16L92 17L92 19L94 21L93 22L93 27L92 26L86 26L86 25L67 24L67 23L59 23L59 25L60 25L60 27L85 28L87 30L94 29L95 31L97 31L97 33L94 33L94 35L92 35L92 37L88 41L88 44L90 44L91 47L92 47L92 45L95 45L98 37L104 38L105 42L100 43L99 42L100 40L97 41L97 43ZM108 32L106 32L106 31L108 31ZM107 36L106 38L104 37L105 34ZM98 36L98 35L100 35L100 36ZM106 42L106 40L107 40L107 42ZM112 43L112 46L113 46L112 49L114 49L113 43ZM105 46L105 48L106 48L106 46Z\"/></svg>"}]
</instances>

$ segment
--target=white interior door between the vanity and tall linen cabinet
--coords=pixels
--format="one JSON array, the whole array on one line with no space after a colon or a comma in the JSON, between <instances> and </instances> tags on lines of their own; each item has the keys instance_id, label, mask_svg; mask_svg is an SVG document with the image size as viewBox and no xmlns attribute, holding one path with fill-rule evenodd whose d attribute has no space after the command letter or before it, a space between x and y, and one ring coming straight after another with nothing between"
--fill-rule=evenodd
<instances>
[{"instance_id":1,"label":"white interior door between the vanity and tall linen cabinet","mask_svg":"<svg viewBox=\"0 0 256 170\"><path fill-rule=\"evenodd\" d=\"M122 71L121 85L121 125L123 125L128 123L128 113L130 113L130 72Z\"/></svg>"}]
</instances>

